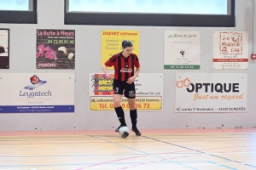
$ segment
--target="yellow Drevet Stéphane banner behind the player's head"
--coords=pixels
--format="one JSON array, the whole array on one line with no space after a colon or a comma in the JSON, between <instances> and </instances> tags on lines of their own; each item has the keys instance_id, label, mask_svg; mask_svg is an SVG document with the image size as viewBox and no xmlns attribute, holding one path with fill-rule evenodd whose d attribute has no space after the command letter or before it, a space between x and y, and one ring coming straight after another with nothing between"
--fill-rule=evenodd
<instances>
[{"instance_id":1,"label":"yellow Drevet St\u00e9phane banner behind the player's head","mask_svg":"<svg viewBox=\"0 0 256 170\"><path fill-rule=\"evenodd\" d=\"M101 66L114 54L122 51L122 42L133 44L132 53L139 58L139 31L102 31L102 62ZM113 70L113 67L109 68Z\"/></svg>"}]
</instances>

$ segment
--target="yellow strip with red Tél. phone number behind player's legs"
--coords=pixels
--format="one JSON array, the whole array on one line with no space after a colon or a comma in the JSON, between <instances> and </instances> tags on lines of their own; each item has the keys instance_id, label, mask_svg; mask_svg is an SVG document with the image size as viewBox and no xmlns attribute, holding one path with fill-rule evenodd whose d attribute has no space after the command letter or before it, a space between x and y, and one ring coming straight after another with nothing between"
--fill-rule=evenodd
<instances>
[{"instance_id":1,"label":"yellow strip with red T\u00e9l. phone number behind player's legs","mask_svg":"<svg viewBox=\"0 0 256 170\"><path fill-rule=\"evenodd\" d=\"M130 110L128 99L125 97L121 101L121 106L125 111ZM143 110L161 110L162 97L161 96L147 96L137 97L136 106L138 111ZM91 96L90 97L90 111L113 111L113 97L112 96Z\"/></svg>"}]
</instances>

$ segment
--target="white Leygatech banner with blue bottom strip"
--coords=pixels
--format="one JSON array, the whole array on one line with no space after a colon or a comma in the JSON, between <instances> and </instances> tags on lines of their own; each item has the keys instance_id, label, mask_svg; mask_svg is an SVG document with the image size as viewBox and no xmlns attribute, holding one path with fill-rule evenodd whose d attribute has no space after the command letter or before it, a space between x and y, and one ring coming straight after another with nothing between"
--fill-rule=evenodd
<instances>
[{"instance_id":1,"label":"white Leygatech banner with blue bottom strip","mask_svg":"<svg viewBox=\"0 0 256 170\"><path fill-rule=\"evenodd\" d=\"M0 113L74 112L73 73L0 73Z\"/></svg>"}]
</instances>

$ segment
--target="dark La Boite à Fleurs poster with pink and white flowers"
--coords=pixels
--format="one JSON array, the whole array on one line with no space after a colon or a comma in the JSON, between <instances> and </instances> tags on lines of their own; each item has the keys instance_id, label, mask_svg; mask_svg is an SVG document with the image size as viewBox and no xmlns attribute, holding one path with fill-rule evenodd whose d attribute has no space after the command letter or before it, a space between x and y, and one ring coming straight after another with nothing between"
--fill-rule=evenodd
<instances>
[{"instance_id":1,"label":"dark La Boite \u00e0 Fleurs poster with pink and white flowers","mask_svg":"<svg viewBox=\"0 0 256 170\"><path fill-rule=\"evenodd\" d=\"M37 69L75 69L75 31L37 30Z\"/></svg>"}]
</instances>

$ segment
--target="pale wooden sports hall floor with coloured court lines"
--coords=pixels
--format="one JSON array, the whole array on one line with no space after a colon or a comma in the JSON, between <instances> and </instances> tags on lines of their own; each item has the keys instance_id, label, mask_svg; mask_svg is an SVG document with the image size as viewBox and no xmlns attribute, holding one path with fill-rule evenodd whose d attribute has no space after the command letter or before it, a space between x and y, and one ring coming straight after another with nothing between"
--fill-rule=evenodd
<instances>
[{"instance_id":1,"label":"pale wooden sports hall floor with coloured court lines","mask_svg":"<svg viewBox=\"0 0 256 170\"><path fill-rule=\"evenodd\" d=\"M0 132L0 169L256 169L256 128Z\"/></svg>"}]
</instances>

